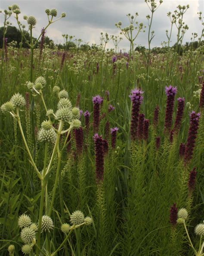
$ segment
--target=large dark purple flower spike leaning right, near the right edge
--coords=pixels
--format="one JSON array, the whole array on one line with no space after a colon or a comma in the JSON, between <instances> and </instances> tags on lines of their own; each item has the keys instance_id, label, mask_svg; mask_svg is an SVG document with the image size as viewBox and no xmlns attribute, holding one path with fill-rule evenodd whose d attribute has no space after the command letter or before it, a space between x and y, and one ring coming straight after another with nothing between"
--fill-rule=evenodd
<instances>
[{"instance_id":1,"label":"large dark purple flower spike leaning right, near the right edge","mask_svg":"<svg viewBox=\"0 0 204 256\"><path fill-rule=\"evenodd\" d=\"M198 134L200 113L195 113L195 111L190 114L190 126L189 135L185 146L185 163L188 163L193 157L193 150L195 148L195 141Z\"/></svg>"}]
</instances>

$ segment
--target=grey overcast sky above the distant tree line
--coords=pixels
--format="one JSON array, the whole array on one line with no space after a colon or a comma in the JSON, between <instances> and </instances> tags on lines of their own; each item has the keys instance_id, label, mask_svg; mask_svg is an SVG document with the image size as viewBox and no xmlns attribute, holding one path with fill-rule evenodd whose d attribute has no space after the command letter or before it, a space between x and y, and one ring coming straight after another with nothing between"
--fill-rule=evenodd
<instances>
[{"instance_id":1,"label":"grey overcast sky above the distant tree line","mask_svg":"<svg viewBox=\"0 0 204 256\"><path fill-rule=\"evenodd\" d=\"M137 21L143 22L144 25L147 25L146 15L151 14L145 0L0 0L0 10L6 9L13 3L20 7L22 13L19 17L23 24L26 25L26 21L22 18L23 15L36 17L35 37L40 34L41 28L47 25L47 16L44 12L46 8L56 8L58 16L62 12L66 12L65 18L51 24L47 29L47 36L56 43L63 43L62 34L68 34L75 35L75 38L81 38L83 42L99 44L101 32L107 32L108 35L119 35L120 30L114 26L116 22L121 21L123 26L129 25L127 13L134 15L137 12L139 14ZM202 25L197 13L200 11L204 13L204 0L164 0L154 13L152 30L155 31L155 38L152 40L151 47L160 46L161 42L167 41L165 31L166 29L170 30L167 12L173 12L179 4L189 4L190 6L184 16L185 24L189 26L184 42L190 42L192 32L201 35ZM16 26L16 20L13 17L9 21ZM0 14L0 26L3 26L2 14ZM175 41L176 27L174 27L172 44ZM136 43L147 46L147 42L147 32L140 33ZM113 47L112 43L108 43L108 47ZM121 41L119 47L121 49L129 48L129 42L126 38Z\"/></svg>"}]
</instances>

